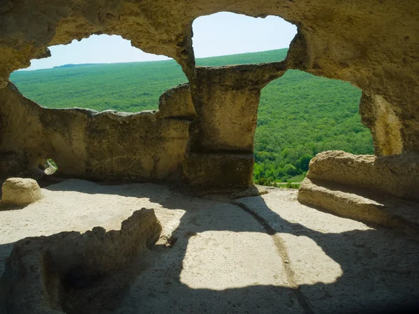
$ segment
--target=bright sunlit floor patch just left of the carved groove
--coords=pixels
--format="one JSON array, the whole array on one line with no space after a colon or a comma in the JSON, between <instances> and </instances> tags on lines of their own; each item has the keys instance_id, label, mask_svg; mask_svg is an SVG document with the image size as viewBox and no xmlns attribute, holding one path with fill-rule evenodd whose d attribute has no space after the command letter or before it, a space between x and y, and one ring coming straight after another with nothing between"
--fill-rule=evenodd
<instances>
[{"instance_id":1,"label":"bright sunlit floor patch just left of the carved groove","mask_svg":"<svg viewBox=\"0 0 419 314\"><path fill-rule=\"evenodd\" d=\"M272 238L261 232L200 232L189 239L180 281L193 289L286 286Z\"/></svg>"}]
</instances>

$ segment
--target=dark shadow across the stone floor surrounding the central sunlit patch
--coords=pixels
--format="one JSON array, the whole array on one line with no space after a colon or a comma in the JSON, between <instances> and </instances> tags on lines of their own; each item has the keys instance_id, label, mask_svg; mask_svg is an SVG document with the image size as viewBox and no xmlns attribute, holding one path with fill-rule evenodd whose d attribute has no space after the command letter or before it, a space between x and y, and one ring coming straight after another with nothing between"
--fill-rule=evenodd
<instances>
[{"instance_id":1,"label":"dark shadow across the stone floor surrounding the central sunlit patch","mask_svg":"<svg viewBox=\"0 0 419 314\"><path fill-rule=\"evenodd\" d=\"M93 287L73 292L64 308L67 313L400 313L419 311L418 242L390 230L351 230L323 233L274 213L263 197L258 203L258 223L237 223L231 204L195 197L180 197L176 191L160 195L153 184L141 189L96 184L80 187L81 193L115 193L147 197L166 209L186 212L173 232L172 248L156 247L125 269L115 271ZM68 186L67 186L68 187ZM59 184L47 187L59 190ZM77 182L73 190L78 190ZM240 209L243 210L243 209ZM249 213L247 213L249 214ZM264 214L273 217L263 220ZM249 214L253 220L254 215ZM274 227L272 227L274 225ZM182 283L182 269L193 234L208 230L263 232L271 236L291 234L311 239L341 267L333 283L302 284L296 287L249 285L226 290L194 289ZM279 232L279 234L278 234ZM300 238L301 237L301 238ZM237 243L237 246L242 244ZM203 248L205 249L205 248ZM279 248L280 250L281 248ZM288 251L292 248L288 248ZM282 252L288 254L287 250ZM272 261L275 262L275 261ZM276 261L286 264L284 255ZM313 262L316 262L315 260ZM240 267L237 265L237 267ZM260 267L264 267L260 264ZM297 281L297 270L288 265L288 283ZM222 269L219 276L223 276ZM293 277L293 278L290 278Z\"/></svg>"}]
</instances>

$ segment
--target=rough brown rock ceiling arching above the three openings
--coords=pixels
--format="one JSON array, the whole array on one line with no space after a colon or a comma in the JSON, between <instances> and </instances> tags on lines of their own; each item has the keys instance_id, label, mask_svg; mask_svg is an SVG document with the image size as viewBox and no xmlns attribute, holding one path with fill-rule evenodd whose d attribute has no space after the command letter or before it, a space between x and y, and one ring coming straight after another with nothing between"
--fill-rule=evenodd
<instances>
[{"instance_id":1,"label":"rough brown rock ceiling arching above the three openings","mask_svg":"<svg viewBox=\"0 0 419 314\"><path fill-rule=\"evenodd\" d=\"M419 151L416 0L3 2L1 85L6 86L13 70L49 55L48 46L92 33L119 34L145 52L174 58L194 85L191 24L201 15L219 11L278 15L296 24L289 66L346 80L369 97L382 97L396 108L403 151Z\"/></svg>"}]
</instances>

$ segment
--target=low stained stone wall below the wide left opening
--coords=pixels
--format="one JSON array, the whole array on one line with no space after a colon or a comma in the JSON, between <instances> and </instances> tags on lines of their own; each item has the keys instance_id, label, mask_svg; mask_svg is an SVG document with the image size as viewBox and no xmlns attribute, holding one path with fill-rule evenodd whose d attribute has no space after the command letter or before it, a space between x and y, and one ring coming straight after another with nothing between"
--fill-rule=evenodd
<instances>
[{"instance_id":1,"label":"low stained stone wall below the wide left opening","mask_svg":"<svg viewBox=\"0 0 419 314\"><path fill-rule=\"evenodd\" d=\"M179 177L193 114L189 98L189 89L181 86L161 96L163 108L157 112L53 110L24 98L10 82L0 89L0 159L5 164L0 177L38 170L47 158L57 163L57 174L67 177Z\"/></svg>"}]
</instances>

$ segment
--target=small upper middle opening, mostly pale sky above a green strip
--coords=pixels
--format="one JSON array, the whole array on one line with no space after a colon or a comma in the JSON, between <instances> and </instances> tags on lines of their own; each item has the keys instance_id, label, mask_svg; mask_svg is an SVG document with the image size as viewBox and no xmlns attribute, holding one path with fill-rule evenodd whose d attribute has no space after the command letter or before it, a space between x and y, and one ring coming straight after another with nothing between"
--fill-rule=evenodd
<instances>
[{"instance_id":1,"label":"small upper middle opening, mostly pale sky above a green strip","mask_svg":"<svg viewBox=\"0 0 419 314\"><path fill-rule=\"evenodd\" d=\"M295 25L281 17L265 18L220 12L193 22L193 50L198 66L226 66L285 59ZM263 52L263 54L260 54Z\"/></svg>"}]
</instances>

